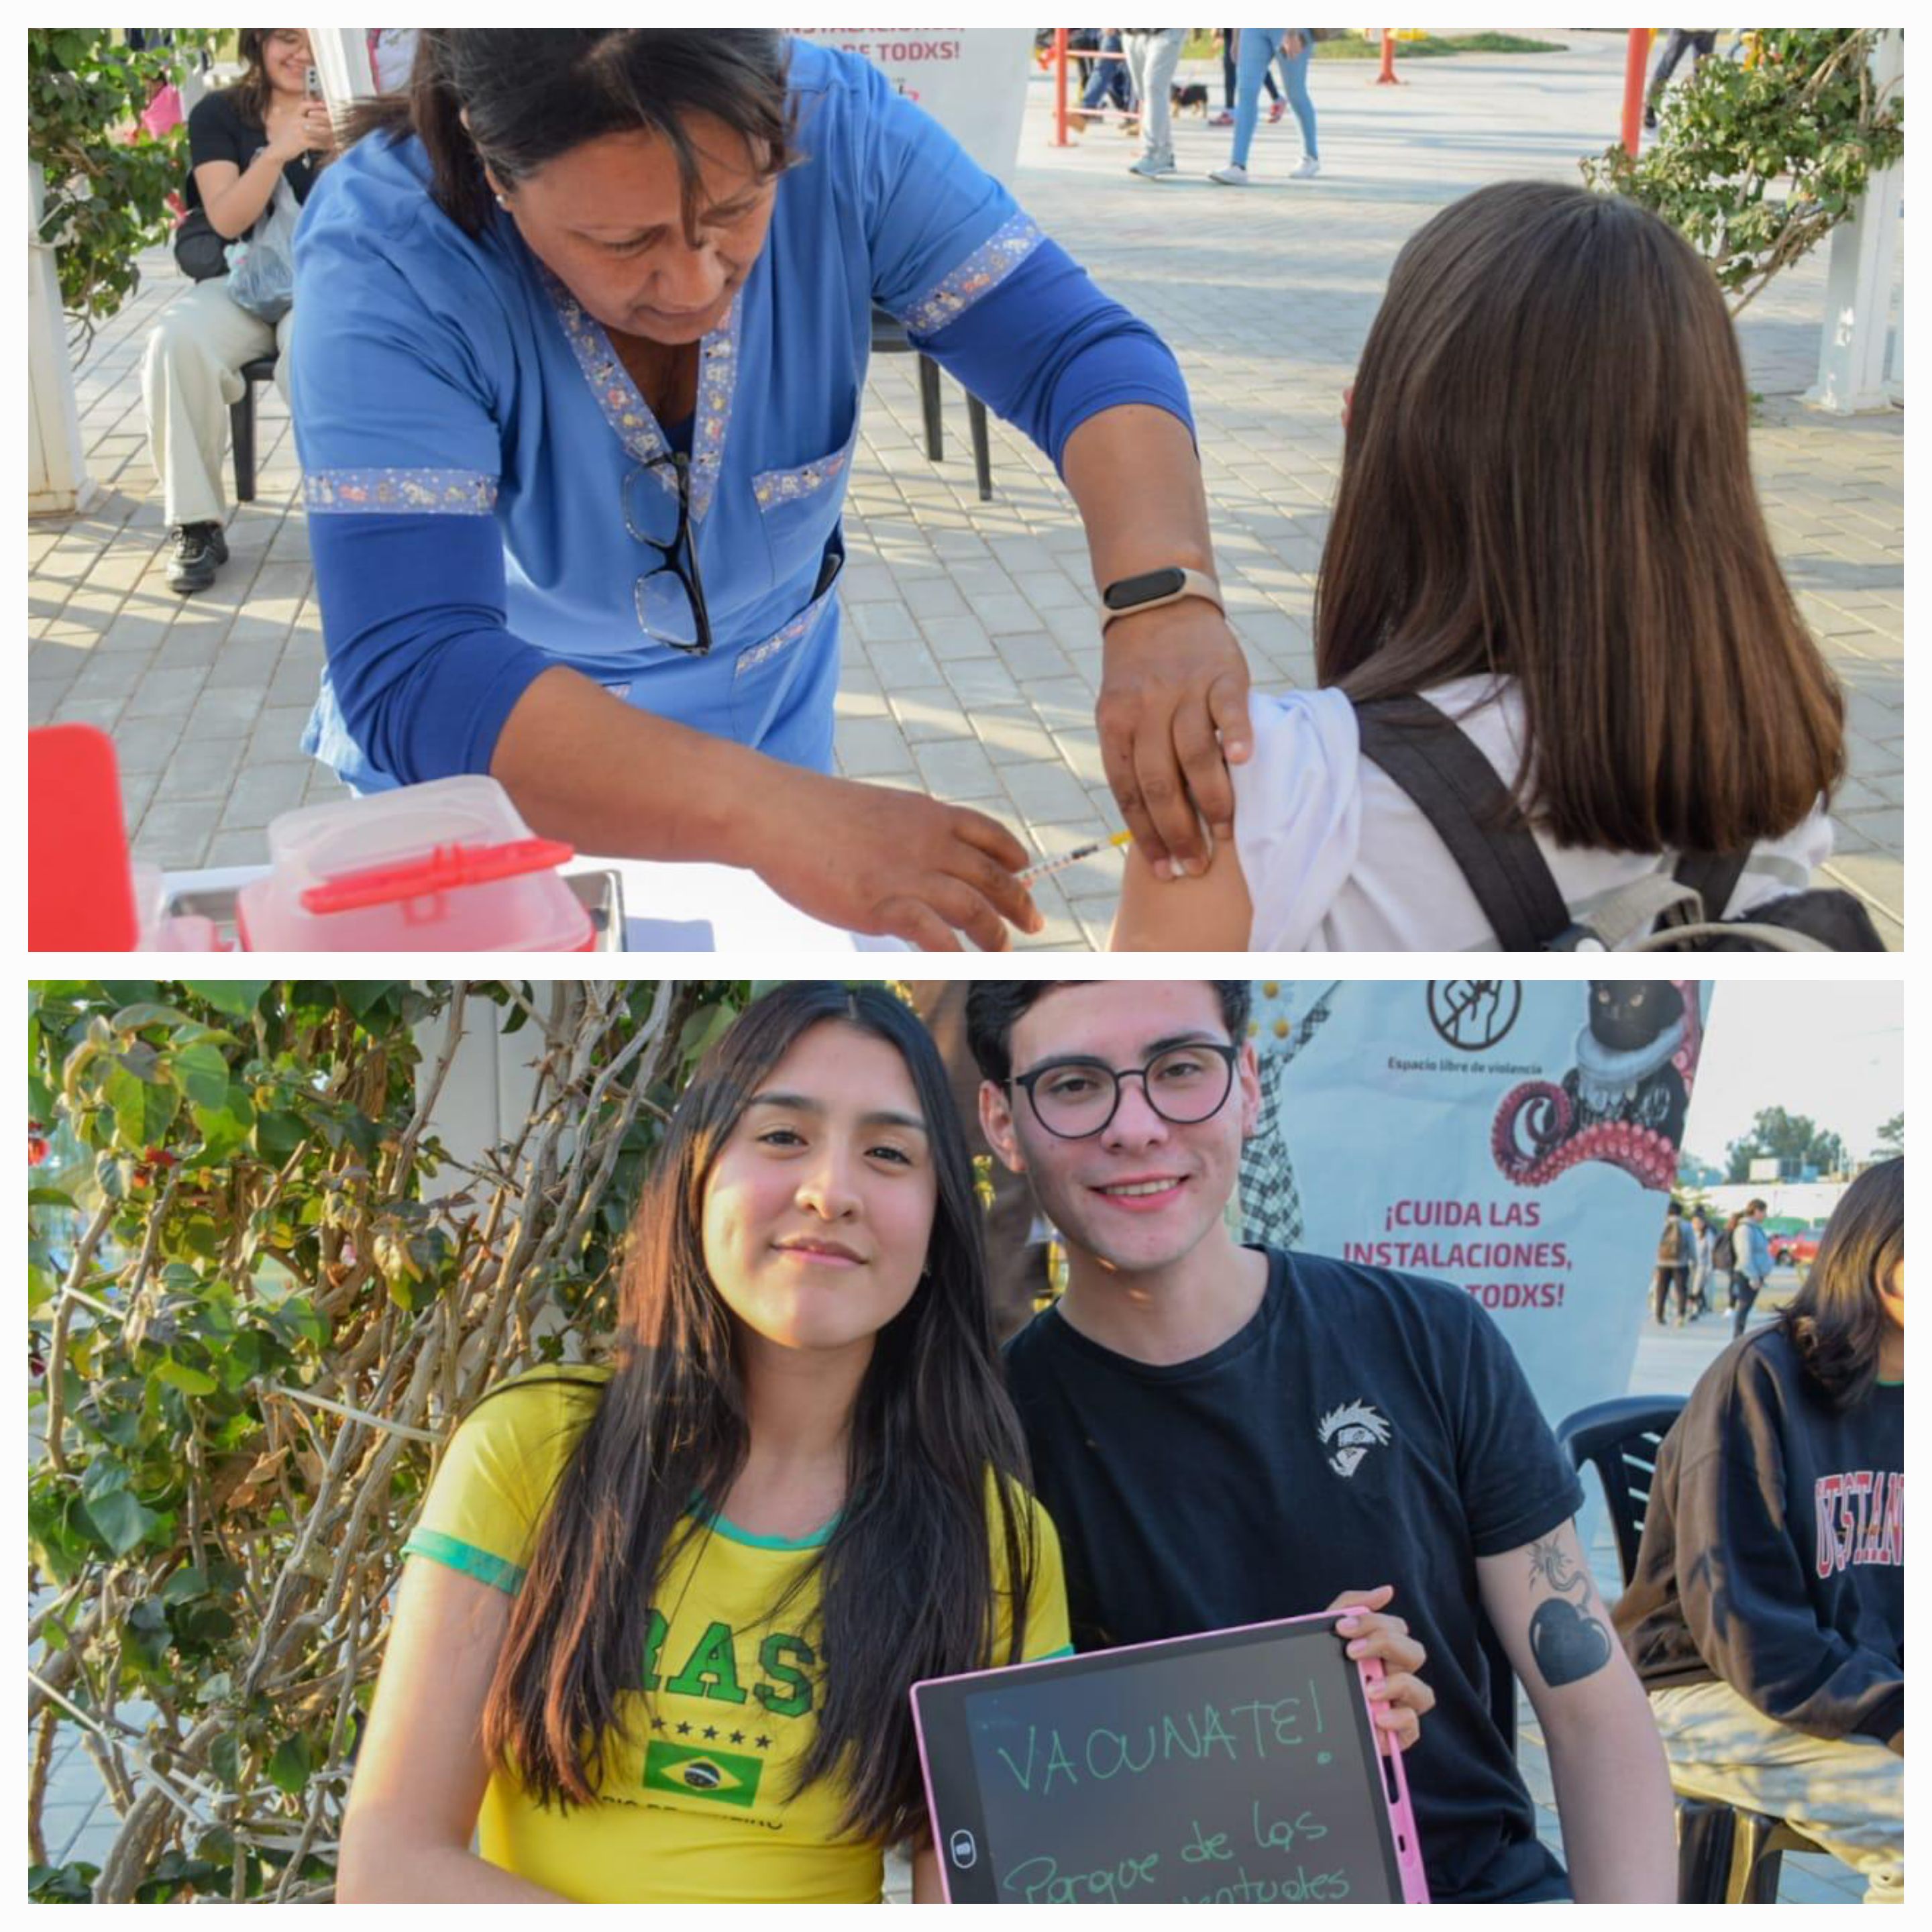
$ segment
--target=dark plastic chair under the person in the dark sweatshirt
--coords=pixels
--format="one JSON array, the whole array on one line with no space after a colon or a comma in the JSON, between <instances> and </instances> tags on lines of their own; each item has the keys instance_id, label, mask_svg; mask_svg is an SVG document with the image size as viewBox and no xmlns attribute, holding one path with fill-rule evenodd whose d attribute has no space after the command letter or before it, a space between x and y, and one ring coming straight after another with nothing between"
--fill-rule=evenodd
<instances>
[{"instance_id":1,"label":"dark plastic chair under the person in the dark sweatshirt","mask_svg":"<svg viewBox=\"0 0 1932 1932\"><path fill-rule=\"evenodd\" d=\"M1604 1484L1609 1522L1617 1536L1617 1567L1625 1588L1636 1575L1644 1540L1650 1482L1658 1445L1685 1406L1683 1395L1619 1395L1592 1403L1557 1424L1557 1441L1582 1472L1592 1466ZM1671 1768L1671 1781L1677 1772ZM1783 1818L1743 1804L1677 1793L1677 1903L1776 1905L1777 1876L1787 1851L1824 1851Z\"/></svg>"}]
</instances>

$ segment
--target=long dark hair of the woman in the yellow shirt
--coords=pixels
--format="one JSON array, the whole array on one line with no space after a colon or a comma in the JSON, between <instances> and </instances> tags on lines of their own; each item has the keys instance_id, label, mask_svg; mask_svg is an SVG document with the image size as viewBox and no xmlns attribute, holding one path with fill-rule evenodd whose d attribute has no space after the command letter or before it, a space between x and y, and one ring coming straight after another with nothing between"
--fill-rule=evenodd
<instances>
[{"instance_id":1,"label":"long dark hair of the woman in the yellow shirt","mask_svg":"<svg viewBox=\"0 0 1932 1932\"><path fill-rule=\"evenodd\" d=\"M842 1777L844 1828L900 1835L922 1804L910 1687L1022 1654L1037 1559L1020 1495L1026 1447L1001 1385L980 1204L945 1068L889 991L782 985L746 1009L678 1101L632 1229L618 1366L510 1617L483 1741L543 1803L597 1795L599 1752L585 1762L583 1741L609 1733L620 1698L638 1690L651 1586L705 1534L690 1499L721 1503L744 1466L738 1337L705 1269L705 1186L759 1084L827 1022L887 1041L906 1063L939 1198L929 1273L875 1341L850 1418L846 1503L815 1559L823 1677L800 1787ZM995 1538L1010 1613L1001 1658Z\"/></svg>"}]
</instances>

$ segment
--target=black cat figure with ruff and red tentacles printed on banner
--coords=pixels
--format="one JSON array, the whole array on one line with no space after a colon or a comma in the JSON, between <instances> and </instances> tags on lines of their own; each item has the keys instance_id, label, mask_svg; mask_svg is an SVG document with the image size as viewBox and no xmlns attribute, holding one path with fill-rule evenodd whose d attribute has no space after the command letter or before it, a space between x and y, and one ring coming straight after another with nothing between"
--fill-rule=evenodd
<instances>
[{"instance_id":1,"label":"black cat figure with ruff and red tentacles printed on banner","mask_svg":"<svg viewBox=\"0 0 1932 1932\"><path fill-rule=\"evenodd\" d=\"M1524 1080L1495 1111L1495 1165L1542 1186L1578 1161L1609 1161L1646 1188L1677 1179L1704 1030L1694 980L1592 980L1577 1065L1561 1084Z\"/></svg>"}]
</instances>

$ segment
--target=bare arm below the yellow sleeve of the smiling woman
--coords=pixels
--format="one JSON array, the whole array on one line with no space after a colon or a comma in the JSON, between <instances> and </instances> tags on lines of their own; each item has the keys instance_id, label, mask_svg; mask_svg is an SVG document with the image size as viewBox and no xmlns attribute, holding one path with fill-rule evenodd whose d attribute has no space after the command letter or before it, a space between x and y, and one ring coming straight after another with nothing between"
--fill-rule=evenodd
<instances>
[{"instance_id":1,"label":"bare arm below the yellow sleeve of the smiling woman","mask_svg":"<svg viewBox=\"0 0 1932 1932\"><path fill-rule=\"evenodd\" d=\"M489 1785L483 1704L512 1600L427 1557L404 1565L342 1828L355 1853L469 1849Z\"/></svg>"}]
</instances>

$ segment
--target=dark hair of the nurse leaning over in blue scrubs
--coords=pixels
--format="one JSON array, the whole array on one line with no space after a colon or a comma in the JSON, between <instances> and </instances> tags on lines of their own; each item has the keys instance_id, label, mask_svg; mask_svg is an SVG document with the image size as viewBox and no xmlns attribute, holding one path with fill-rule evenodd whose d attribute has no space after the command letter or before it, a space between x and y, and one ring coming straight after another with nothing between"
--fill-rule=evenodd
<instances>
[{"instance_id":1,"label":"dark hair of the nurse leaning over in blue scrubs","mask_svg":"<svg viewBox=\"0 0 1932 1932\"><path fill-rule=\"evenodd\" d=\"M408 93L363 102L348 137L413 133L437 205L479 236L495 214L485 164L508 184L599 135L661 133L694 230L699 176L686 118L721 120L744 135L761 180L782 174L794 143L788 64L784 35L765 29L425 27Z\"/></svg>"}]
</instances>

